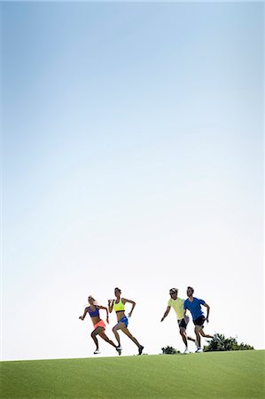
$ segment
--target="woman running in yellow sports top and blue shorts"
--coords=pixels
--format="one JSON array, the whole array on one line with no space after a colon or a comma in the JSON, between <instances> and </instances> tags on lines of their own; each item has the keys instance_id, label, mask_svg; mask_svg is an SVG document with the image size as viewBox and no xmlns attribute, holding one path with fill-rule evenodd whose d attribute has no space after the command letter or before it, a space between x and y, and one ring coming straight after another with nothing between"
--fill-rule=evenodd
<instances>
[{"instance_id":1,"label":"woman running in yellow sports top and blue shorts","mask_svg":"<svg viewBox=\"0 0 265 399\"><path fill-rule=\"evenodd\" d=\"M120 288L116 287L114 290L114 294L115 294L116 299L108 301L108 309L109 309L110 313L112 313L112 311L114 309L116 312L116 315L117 315L118 323L116 325L114 325L114 327L113 327L113 333L114 333L116 340L118 341L118 345L119 345L117 349L122 350L120 335L118 333L118 330L121 330L129 337L130 340L132 340L136 344L136 346L138 347L138 355L142 355L144 347L139 344L139 342L136 340L135 337L132 336L132 334L129 332L129 329L127 328L128 324L129 324L128 317L131 317L133 309L135 309L136 302L130 301L125 298L121 298ZM125 316L125 306L124 305L126 302L132 304L132 308L129 312L128 317Z\"/></svg>"}]
</instances>

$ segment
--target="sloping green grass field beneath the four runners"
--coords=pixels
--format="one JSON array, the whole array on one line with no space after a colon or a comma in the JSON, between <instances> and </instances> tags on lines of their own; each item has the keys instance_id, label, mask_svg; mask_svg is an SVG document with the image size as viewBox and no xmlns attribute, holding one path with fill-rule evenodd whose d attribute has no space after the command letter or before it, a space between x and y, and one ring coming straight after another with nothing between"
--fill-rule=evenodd
<instances>
[{"instance_id":1,"label":"sloping green grass field beneath the four runners","mask_svg":"<svg viewBox=\"0 0 265 399\"><path fill-rule=\"evenodd\" d=\"M264 398L265 351L1 363L1 398Z\"/></svg>"}]
</instances>

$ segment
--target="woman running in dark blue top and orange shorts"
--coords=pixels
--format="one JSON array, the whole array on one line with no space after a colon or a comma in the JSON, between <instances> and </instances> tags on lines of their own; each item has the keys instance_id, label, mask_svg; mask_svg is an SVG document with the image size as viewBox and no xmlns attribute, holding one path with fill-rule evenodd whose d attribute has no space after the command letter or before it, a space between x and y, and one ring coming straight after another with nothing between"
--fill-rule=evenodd
<instances>
[{"instance_id":1,"label":"woman running in dark blue top and orange shorts","mask_svg":"<svg viewBox=\"0 0 265 399\"><path fill-rule=\"evenodd\" d=\"M99 309L105 309L106 310L106 322L109 323L108 309L105 308L104 306L97 305L97 301L95 301L95 299L92 296L89 296L88 301L89 301L90 306L87 306L84 309L83 315L80 316L79 318L81 320L83 320L86 317L87 313L90 314L92 323L94 325L94 331L91 332L91 337L96 344L96 350L94 352L94 355L97 355L100 353L99 347L98 347L97 335L99 335L103 340L105 340L107 343L109 343L114 348L116 348L119 355L121 355L121 350L114 344L114 342L112 340L109 340L109 338L105 335L105 323L99 316Z\"/></svg>"}]
</instances>

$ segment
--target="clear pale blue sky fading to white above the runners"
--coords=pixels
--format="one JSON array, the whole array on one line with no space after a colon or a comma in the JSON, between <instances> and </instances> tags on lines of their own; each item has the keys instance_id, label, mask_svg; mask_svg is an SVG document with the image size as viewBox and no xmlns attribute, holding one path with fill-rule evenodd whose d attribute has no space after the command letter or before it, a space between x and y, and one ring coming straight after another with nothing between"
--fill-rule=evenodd
<instances>
[{"instance_id":1,"label":"clear pale blue sky fading to white above the runners","mask_svg":"<svg viewBox=\"0 0 265 399\"><path fill-rule=\"evenodd\" d=\"M92 356L115 286L146 353L183 350L173 286L264 348L263 4L1 11L2 359Z\"/></svg>"}]
</instances>

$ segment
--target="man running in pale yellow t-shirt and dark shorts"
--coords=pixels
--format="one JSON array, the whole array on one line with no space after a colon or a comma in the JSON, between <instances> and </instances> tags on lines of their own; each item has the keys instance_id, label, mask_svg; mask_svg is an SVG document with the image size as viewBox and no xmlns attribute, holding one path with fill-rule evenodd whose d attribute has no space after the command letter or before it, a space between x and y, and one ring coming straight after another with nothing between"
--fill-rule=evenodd
<instances>
[{"instance_id":1,"label":"man running in pale yellow t-shirt and dark shorts","mask_svg":"<svg viewBox=\"0 0 265 399\"><path fill-rule=\"evenodd\" d=\"M188 348L188 340L193 340L193 342L195 342L195 340L194 338L187 337L186 328L190 321L190 318L188 316L184 317L184 309L183 309L184 300L178 298L177 293L178 293L177 288L171 288L169 290L170 299L168 300L168 308L166 309L164 316L161 318L161 322L164 320L164 318L168 316L168 313L172 307L175 310L175 314L177 317L177 323L179 325L179 333L181 334L183 342L185 344L185 350L183 353L190 353Z\"/></svg>"}]
</instances>

